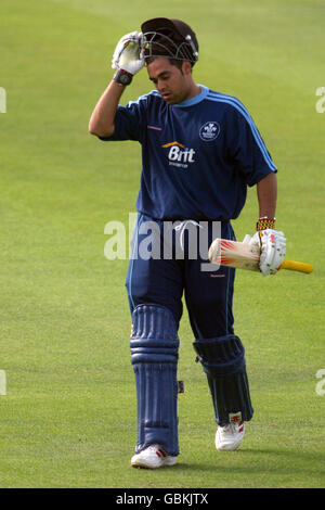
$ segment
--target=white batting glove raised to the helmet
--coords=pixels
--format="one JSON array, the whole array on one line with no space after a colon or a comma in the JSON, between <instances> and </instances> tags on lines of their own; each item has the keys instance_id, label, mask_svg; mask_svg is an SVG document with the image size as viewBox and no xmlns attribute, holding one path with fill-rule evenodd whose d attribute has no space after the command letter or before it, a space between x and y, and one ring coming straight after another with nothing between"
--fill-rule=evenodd
<instances>
[{"instance_id":1,"label":"white batting glove raised to the helmet","mask_svg":"<svg viewBox=\"0 0 325 510\"><path fill-rule=\"evenodd\" d=\"M112 67L122 69L131 75L135 75L144 66L144 58L141 53L143 35L139 31L131 31L123 36L117 43Z\"/></svg>"}]
</instances>

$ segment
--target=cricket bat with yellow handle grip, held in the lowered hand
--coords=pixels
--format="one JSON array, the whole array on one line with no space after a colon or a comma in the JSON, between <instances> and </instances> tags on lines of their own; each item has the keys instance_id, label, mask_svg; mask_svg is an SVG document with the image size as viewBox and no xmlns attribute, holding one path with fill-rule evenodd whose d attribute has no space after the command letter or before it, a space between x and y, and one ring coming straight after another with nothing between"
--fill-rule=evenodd
<instances>
[{"instance_id":1,"label":"cricket bat with yellow handle grip, held in the lowered hand","mask_svg":"<svg viewBox=\"0 0 325 510\"><path fill-rule=\"evenodd\" d=\"M209 260L221 266L259 271L260 248L257 245L217 238L210 245ZM286 258L278 269L307 273L314 270L311 264L287 260Z\"/></svg>"}]
</instances>

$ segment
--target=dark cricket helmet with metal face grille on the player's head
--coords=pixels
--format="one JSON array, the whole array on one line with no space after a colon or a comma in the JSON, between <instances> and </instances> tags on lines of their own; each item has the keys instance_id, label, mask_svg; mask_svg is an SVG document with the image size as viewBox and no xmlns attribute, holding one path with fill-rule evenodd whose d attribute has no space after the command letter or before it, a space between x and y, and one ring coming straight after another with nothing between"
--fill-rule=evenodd
<instances>
[{"instance_id":1,"label":"dark cricket helmet with metal face grille on the player's head","mask_svg":"<svg viewBox=\"0 0 325 510\"><path fill-rule=\"evenodd\" d=\"M173 60L187 60L195 64L198 60L198 42L192 28L181 20L155 17L141 25L144 59L167 56Z\"/></svg>"}]
</instances>

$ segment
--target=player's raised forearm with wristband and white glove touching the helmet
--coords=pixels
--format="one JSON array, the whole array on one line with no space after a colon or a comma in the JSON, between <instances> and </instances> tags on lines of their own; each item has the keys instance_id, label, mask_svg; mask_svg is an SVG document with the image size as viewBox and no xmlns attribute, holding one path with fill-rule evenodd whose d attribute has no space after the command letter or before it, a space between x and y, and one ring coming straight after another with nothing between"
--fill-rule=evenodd
<instances>
[{"instance_id":1,"label":"player's raised forearm with wristband and white glove touching the helmet","mask_svg":"<svg viewBox=\"0 0 325 510\"><path fill-rule=\"evenodd\" d=\"M98 137L109 138L115 130L115 116L120 97L133 76L142 69L144 59L141 53L142 34L132 31L117 43L112 67L117 69L113 80L100 98L89 120L89 132Z\"/></svg>"}]
</instances>

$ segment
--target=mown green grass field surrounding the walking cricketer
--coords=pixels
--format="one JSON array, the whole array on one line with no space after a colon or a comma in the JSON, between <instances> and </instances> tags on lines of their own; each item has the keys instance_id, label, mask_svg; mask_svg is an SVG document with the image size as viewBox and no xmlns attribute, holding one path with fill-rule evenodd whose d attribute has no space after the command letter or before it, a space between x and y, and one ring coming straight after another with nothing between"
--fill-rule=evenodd
<instances>
[{"instance_id":1,"label":"mown green grass field surrounding the walking cricketer","mask_svg":"<svg viewBox=\"0 0 325 510\"><path fill-rule=\"evenodd\" d=\"M237 273L236 332L256 410L236 452L216 423L184 314L179 464L133 470L128 260L104 257L108 221L134 213L140 146L88 120L117 40L154 16L195 28L197 82L238 97L278 166L277 228L310 276ZM324 487L325 87L323 0L1 0L1 487ZM123 102L151 90L145 71ZM252 233L256 190L234 222ZM324 387L324 386L323 386Z\"/></svg>"}]
</instances>

